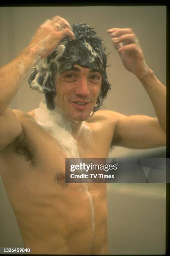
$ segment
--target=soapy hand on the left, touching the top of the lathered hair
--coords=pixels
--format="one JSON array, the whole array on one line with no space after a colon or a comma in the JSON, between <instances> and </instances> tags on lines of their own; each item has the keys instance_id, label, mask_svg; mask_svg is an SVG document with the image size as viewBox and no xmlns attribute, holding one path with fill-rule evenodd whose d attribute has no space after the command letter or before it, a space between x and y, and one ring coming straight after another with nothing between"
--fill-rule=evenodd
<instances>
[{"instance_id":1,"label":"soapy hand on the left, touching the top of the lathered hair","mask_svg":"<svg viewBox=\"0 0 170 256\"><path fill-rule=\"evenodd\" d=\"M52 20L46 20L37 29L30 41L30 53L36 54L42 59L46 58L65 36L68 36L71 40L75 39L67 20L60 16L55 16Z\"/></svg>"}]
</instances>

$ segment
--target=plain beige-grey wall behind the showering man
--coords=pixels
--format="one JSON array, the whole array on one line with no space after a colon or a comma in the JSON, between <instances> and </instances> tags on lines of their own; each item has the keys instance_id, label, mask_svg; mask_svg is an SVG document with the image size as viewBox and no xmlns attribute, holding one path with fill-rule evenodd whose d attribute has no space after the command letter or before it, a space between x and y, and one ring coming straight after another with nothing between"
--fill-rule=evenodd
<instances>
[{"instance_id":1,"label":"plain beige-grey wall behind the showering man","mask_svg":"<svg viewBox=\"0 0 170 256\"><path fill-rule=\"evenodd\" d=\"M0 66L27 46L45 20L60 15L72 23L87 22L107 46L107 76L112 84L103 109L125 115L155 116L138 79L122 65L106 33L109 28L133 28L145 61L166 84L165 6L1 7ZM10 74L9 74L10 76ZM42 94L28 86L25 77L10 108L37 108ZM134 150L115 147L109 157L165 157L165 147ZM15 184L14 184L15 185ZM108 237L110 254L165 254L165 184L108 184ZM15 215L0 179L0 247L23 247Z\"/></svg>"}]
</instances>

